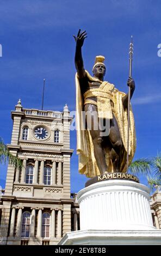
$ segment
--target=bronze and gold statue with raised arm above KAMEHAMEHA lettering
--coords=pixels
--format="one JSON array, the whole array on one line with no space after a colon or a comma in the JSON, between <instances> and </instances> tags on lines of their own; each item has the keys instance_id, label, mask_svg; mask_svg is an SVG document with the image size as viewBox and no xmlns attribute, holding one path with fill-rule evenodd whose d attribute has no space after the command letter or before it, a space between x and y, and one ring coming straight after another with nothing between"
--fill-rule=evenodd
<instances>
[{"instance_id":1,"label":"bronze and gold statue with raised arm above KAMEHAMEHA lettering","mask_svg":"<svg viewBox=\"0 0 161 256\"><path fill-rule=\"evenodd\" d=\"M82 46L86 32L80 32L79 29L78 35L74 38L76 41L76 123L79 173L91 178L107 172L126 172L127 150L128 164L130 164L135 153L136 142L131 107L129 108L129 138L127 138L128 94L119 92L114 84L103 81L106 74L103 56L96 56L92 69L94 76L84 69ZM127 85L130 88L131 98L135 89L132 77L129 77ZM83 112L86 114L86 129L82 129ZM108 125L104 126L104 123ZM127 141L129 141L128 148Z\"/></svg>"}]
</instances>

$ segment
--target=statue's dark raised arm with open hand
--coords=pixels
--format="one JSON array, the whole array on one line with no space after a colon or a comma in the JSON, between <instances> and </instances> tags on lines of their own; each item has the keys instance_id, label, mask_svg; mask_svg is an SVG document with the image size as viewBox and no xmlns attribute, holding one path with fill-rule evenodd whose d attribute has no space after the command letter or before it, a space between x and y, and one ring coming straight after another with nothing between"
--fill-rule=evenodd
<instances>
[{"instance_id":1,"label":"statue's dark raised arm with open hand","mask_svg":"<svg viewBox=\"0 0 161 256\"><path fill-rule=\"evenodd\" d=\"M78 31L77 36L73 35L76 41L76 53L75 53L75 65L76 70L79 78L85 77L85 70L83 65L83 58L82 58L82 46L84 43L84 39L86 36L86 31L80 32Z\"/></svg>"}]
</instances>

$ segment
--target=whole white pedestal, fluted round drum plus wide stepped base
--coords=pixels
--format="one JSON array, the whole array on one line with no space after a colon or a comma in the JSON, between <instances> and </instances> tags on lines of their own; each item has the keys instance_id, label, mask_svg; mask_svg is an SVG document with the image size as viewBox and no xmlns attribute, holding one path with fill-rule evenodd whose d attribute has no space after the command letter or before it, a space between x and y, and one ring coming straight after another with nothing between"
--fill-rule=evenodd
<instances>
[{"instance_id":1,"label":"whole white pedestal, fluted round drum plus wide stepped base","mask_svg":"<svg viewBox=\"0 0 161 256\"><path fill-rule=\"evenodd\" d=\"M128 180L92 184L77 194L80 230L58 245L161 245L153 227L148 188Z\"/></svg>"}]
</instances>

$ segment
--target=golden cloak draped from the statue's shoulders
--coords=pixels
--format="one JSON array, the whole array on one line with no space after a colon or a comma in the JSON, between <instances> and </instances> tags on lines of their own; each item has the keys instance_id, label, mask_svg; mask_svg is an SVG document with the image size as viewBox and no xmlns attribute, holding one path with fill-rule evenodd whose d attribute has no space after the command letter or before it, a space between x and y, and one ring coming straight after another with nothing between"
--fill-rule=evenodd
<instances>
[{"instance_id":1,"label":"golden cloak draped from the statue's shoulders","mask_svg":"<svg viewBox=\"0 0 161 256\"><path fill-rule=\"evenodd\" d=\"M88 71L86 76L90 81L100 82L95 77L90 76ZM108 83L109 84L109 83ZM125 93L119 92L116 88L113 91L114 114L119 126L123 150L122 162L120 172L125 173L127 169L127 109L123 109L122 97ZM80 90L79 79L76 74L76 125L77 125L77 154L79 155L79 173L85 174L91 178L100 175L100 170L97 167L96 159L94 156L94 144L89 130L84 129L84 118L82 115L84 111L83 96ZM135 125L132 107L130 108L130 125L129 125L129 164L131 164L136 147ZM106 153L106 162L109 166L109 157ZM113 172L113 168L108 168L107 172Z\"/></svg>"}]
</instances>

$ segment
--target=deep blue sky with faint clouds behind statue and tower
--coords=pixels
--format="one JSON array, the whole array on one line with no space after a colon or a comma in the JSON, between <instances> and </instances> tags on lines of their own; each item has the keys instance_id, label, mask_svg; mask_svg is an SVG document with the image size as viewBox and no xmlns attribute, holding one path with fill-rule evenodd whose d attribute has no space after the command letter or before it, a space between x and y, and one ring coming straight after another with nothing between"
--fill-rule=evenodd
<instances>
[{"instance_id":1,"label":"deep blue sky with faint clouds behind statue and tower","mask_svg":"<svg viewBox=\"0 0 161 256\"><path fill-rule=\"evenodd\" d=\"M40 108L46 78L44 109L62 111L65 103L75 110L75 40L86 29L83 47L85 69L91 72L95 56L106 57L106 80L127 92L128 47L133 35L132 99L137 130L134 159L161 151L161 43L160 1L151 0L26 0L0 3L1 126L0 136L10 143L10 111L21 98L25 108ZM71 132L71 191L84 187L78 174L76 132ZM5 186L7 167L0 166ZM143 182L145 180L143 179Z\"/></svg>"}]
</instances>

